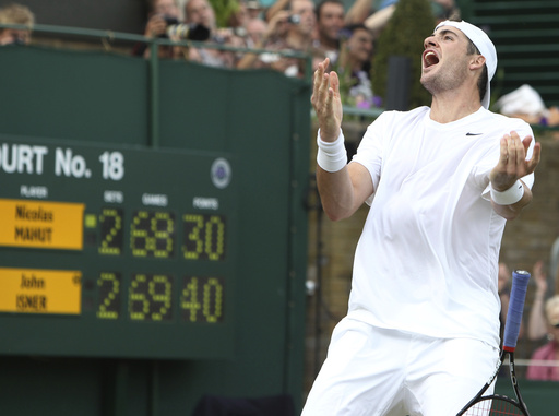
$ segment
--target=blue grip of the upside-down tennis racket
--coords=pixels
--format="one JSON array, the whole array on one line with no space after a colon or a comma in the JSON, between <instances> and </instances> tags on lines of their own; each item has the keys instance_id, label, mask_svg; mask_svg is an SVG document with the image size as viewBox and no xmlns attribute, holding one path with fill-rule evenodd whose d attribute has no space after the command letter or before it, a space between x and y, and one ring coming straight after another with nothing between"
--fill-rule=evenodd
<instances>
[{"instance_id":1,"label":"blue grip of the upside-down tennis racket","mask_svg":"<svg viewBox=\"0 0 559 416\"><path fill-rule=\"evenodd\" d=\"M509 311L507 312L507 322L504 322L502 343L503 349L508 352L514 352L514 348L516 348L528 281L528 272L523 270L512 272L511 299L509 301Z\"/></svg>"}]
</instances>

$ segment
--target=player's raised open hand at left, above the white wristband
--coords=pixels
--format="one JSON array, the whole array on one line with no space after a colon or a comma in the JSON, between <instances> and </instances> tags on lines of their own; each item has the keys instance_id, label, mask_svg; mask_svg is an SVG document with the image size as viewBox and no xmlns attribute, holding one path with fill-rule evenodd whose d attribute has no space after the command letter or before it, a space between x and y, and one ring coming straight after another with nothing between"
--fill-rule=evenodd
<instances>
[{"instance_id":1,"label":"player's raised open hand at left, above the white wristband","mask_svg":"<svg viewBox=\"0 0 559 416\"><path fill-rule=\"evenodd\" d=\"M319 63L314 71L312 97L310 102L320 127L320 138L325 142L333 142L340 135L342 126L342 99L340 97L340 79L337 73L326 73L330 59Z\"/></svg>"}]
</instances>

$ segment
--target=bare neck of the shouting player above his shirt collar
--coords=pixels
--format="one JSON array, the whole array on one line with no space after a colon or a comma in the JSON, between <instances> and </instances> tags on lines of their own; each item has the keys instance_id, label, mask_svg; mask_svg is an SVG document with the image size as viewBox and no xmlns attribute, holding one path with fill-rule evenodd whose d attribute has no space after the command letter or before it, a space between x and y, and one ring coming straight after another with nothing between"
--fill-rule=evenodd
<instances>
[{"instance_id":1,"label":"bare neck of the shouting player above his shirt collar","mask_svg":"<svg viewBox=\"0 0 559 416\"><path fill-rule=\"evenodd\" d=\"M448 123L476 112L479 107L481 103L477 93L472 96L448 92L433 95L430 117L433 121Z\"/></svg>"}]
</instances>

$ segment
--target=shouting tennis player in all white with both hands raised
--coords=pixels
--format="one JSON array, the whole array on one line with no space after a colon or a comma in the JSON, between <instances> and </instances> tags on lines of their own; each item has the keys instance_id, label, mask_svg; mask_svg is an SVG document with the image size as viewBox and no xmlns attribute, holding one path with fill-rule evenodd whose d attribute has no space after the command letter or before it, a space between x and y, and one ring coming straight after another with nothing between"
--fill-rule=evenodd
<instances>
[{"instance_id":1,"label":"shouting tennis player in all white with both hands raised","mask_svg":"<svg viewBox=\"0 0 559 416\"><path fill-rule=\"evenodd\" d=\"M337 74L328 59L314 73L324 211L370 211L304 416L452 416L499 358L501 237L532 200L540 145L530 124L488 110L485 32L445 21L424 44L431 106L382 114L348 164Z\"/></svg>"}]
</instances>

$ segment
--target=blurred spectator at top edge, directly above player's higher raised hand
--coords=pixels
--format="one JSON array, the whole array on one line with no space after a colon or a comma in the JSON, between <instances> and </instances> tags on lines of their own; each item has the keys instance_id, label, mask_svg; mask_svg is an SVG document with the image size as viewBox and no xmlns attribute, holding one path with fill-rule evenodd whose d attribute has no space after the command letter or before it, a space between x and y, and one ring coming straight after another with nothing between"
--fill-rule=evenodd
<instances>
[{"instance_id":1,"label":"blurred spectator at top edge, directly above player's higher raised hand","mask_svg":"<svg viewBox=\"0 0 559 416\"><path fill-rule=\"evenodd\" d=\"M340 32L344 27L344 3L323 0L317 7L317 35L314 47L321 49L335 64L340 54Z\"/></svg>"}]
</instances>

